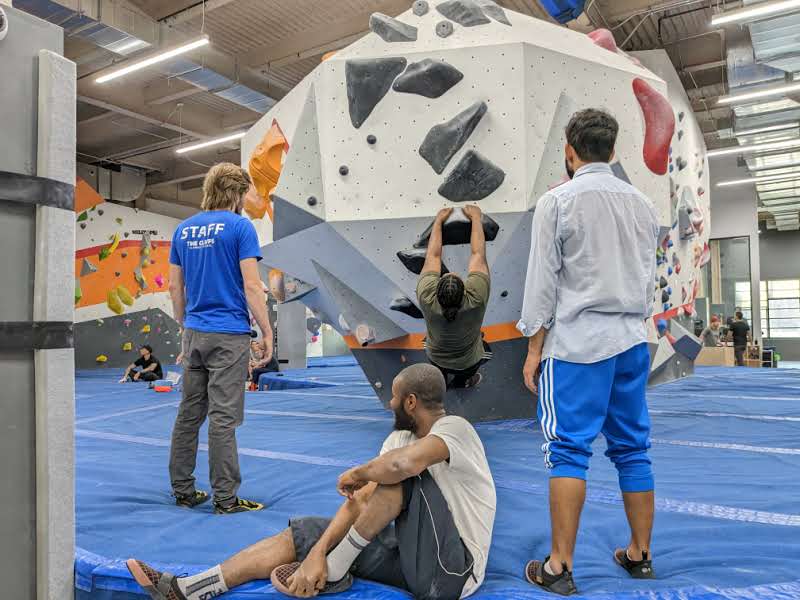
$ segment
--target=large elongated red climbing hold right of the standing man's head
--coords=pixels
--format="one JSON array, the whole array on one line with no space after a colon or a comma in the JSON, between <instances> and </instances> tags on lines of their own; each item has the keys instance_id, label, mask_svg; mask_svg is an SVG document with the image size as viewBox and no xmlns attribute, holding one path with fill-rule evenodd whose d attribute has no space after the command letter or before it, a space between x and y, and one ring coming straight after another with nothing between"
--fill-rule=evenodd
<instances>
[{"instance_id":1,"label":"large elongated red climbing hold right of the standing man's head","mask_svg":"<svg viewBox=\"0 0 800 600\"><path fill-rule=\"evenodd\" d=\"M675 115L669 101L644 79L633 80L633 93L644 113L644 163L656 175L666 175Z\"/></svg>"}]
</instances>

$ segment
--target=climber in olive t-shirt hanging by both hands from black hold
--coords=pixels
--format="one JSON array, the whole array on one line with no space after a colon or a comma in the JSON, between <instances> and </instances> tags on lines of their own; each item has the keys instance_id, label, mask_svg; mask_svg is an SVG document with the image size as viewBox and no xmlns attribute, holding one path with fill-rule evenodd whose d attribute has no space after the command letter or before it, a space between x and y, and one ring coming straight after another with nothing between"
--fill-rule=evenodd
<instances>
[{"instance_id":1,"label":"climber in olive t-shirt hanging by both hands from black hold","mask_svg":"<svg viewBox=\"0 0 800 600\"><path fill-rule=\"evenodd\" d=\"M444 208L433 223L417 283L417 299L428 331L425 351L444 375L448 388L477 386L481 381L478 369L492 356L489 344L481 336L490 288L481 210L477 206L462 210L472 221L467 280L455 273L442 275L442 226L453 212L452 208Z\"/></svg>"}]
</instances>

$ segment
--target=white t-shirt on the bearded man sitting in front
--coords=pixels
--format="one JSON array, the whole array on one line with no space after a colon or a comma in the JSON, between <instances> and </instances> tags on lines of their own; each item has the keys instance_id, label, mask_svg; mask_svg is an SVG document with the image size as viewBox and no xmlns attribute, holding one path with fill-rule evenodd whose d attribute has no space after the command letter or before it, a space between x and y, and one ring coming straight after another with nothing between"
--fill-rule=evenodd
<instances>
[{"instance_id":1,"label":"white t-shirt on the bearded man sitting in front","mask_svg":"<svg viewBox=\"0 0 800 600\"><path fill-rule=\"evenodd\" d=\"M494 481L483 444L469 421L442 417L434 423L430 435L447 444L450 459L428 467L428 472L442 491L461 539L475 560L475 579L470 577L461 593L466 598L478 589L486 574L497 509ZM417 436L410 431L394 431L383 443L381 454L416 440Z\"/></svg>"}]
</instances>

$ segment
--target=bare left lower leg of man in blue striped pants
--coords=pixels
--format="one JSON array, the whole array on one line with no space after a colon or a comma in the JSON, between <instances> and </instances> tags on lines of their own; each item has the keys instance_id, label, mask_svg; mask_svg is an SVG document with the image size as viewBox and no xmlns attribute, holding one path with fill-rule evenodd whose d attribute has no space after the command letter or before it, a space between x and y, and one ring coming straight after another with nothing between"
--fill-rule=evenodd
<instances>
[{"instance_id":1,"label":"bare left lower leg of man in blue striped pants","mask_svg":"<svg viewBox=\"0 0 800 600\"><path fill-rule=\"evenodd\" d=\"M585 499L586 482L583 479L550 479L550 570L555 575L562 572L562 563L566 563L567 569L572 571L572 557Z\"/></svg>"}]
</instances>

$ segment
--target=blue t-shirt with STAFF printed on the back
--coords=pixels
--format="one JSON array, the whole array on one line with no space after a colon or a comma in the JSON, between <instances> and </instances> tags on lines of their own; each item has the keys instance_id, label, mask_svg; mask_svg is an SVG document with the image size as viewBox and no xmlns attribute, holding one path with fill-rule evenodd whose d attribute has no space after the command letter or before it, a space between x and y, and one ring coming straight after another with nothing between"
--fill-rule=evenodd
<instances>
[{"instance_id":1,"label":"blue t-shirt with STAFF printed on the back","mask_svg":"<svg viewBox=\"0 0 800 600\"><path fill-rule=\"evenodd\" d=\"M239 261L261 260L253 224L227 210L199 213L178 225L169 262L186 287L184 327L204 333L250 333Z\"/></svg>"}]
</instances>

